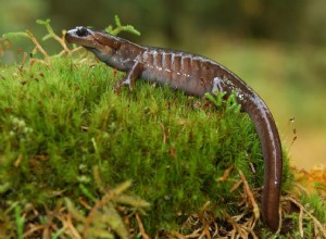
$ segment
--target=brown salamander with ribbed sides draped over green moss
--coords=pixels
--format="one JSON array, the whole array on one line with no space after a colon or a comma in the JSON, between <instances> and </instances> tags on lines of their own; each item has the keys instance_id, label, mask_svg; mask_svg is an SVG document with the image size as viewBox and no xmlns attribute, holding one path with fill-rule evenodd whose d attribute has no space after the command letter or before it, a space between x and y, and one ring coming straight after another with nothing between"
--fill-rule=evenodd
<instances>
[{"instance_id":1,"label":"brown salamander with ribbed sides draped over green moss","mask_svg":"<svg viewBox=\"0 0 326 239\"><path fill-rule=\"evenodd\" d=\"M67 42L77 43L91 51L109 66L126 72L116 87L133 86L138 78L168 85L187 95L235 92L241 110L253 121L264 158L264 187L262 216L274 231L279 228L279 198L283 174L283 151L278 130L271 111L262 98L236 74L208 58L145 47L105 32L78 26L66 33Z\"/></svg>"}]
</instances>

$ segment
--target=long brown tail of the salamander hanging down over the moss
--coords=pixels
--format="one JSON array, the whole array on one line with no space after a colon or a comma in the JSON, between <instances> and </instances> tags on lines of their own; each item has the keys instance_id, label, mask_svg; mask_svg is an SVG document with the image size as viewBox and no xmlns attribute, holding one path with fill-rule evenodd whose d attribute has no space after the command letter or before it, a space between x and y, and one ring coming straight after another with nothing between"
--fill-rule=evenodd
<instances>
[{"instance_id":1,"label":"long brown tail of the salamander hanging down over the moss","mask_svg":"<svg viewBox=\"0 0 326 239\"><path fill-rule=\"evenodd\" d=\"M278 130L267 105L256 93L251 93L241 104L254 123L264 156L262 216L266 225L276 231L279 227L283 174L283 152Z\"/></svg>"}]
</instances>

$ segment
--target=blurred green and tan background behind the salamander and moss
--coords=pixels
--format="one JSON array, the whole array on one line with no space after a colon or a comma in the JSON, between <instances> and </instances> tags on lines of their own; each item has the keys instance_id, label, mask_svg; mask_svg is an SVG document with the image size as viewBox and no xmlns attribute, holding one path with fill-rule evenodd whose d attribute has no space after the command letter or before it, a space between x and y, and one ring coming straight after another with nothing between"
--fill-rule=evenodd
<instances>
[{"instance_id":1,"label":"blurred green and tan background behind the salamander and moss","mask_svg":"<svg viewBox=\"0 0 326 239\"><path fill-rule=\"evenodd\" d=\"M58 34L104 28L117 14L141 33L122 37L209 56L267 102L294 164L326 164L325 0L0 0L0 36L29 29L40 38L46 30L37 18L51 18ZM13 41L33 49L27 39ZM60 49L53 41L45 48Z\"/></svg>"}]
</instances>

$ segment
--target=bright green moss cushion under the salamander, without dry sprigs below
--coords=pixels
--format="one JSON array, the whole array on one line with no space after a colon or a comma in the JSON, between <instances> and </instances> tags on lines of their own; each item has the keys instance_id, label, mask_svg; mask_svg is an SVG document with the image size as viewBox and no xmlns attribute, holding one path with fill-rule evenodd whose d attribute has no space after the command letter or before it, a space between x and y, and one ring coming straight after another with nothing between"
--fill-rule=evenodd
<instances>
[{"instance_id":1,"label":"bright green moss cushion under the salamander, without dry sprigs below","mask_svg":"<svg viewBox=\"0 0 326 239\"><path fill-rule=\"evenodd\" d=\"M2 68L2 211L12 203L43 211L63 198L100 199L98 167L104 188L133 181L128 193L151 204L143 225L155 235L180 229L208 201L220 219L239 212L241 190L230 192L239 174L217 181L230 165L252 188L262 186L260 141L234 98L206 108L206 99L140 80L117 95L112 89L122 75L105 65L51 61ZM286 189L288 163L285 173Z\"/></svg>"}]
</instances>

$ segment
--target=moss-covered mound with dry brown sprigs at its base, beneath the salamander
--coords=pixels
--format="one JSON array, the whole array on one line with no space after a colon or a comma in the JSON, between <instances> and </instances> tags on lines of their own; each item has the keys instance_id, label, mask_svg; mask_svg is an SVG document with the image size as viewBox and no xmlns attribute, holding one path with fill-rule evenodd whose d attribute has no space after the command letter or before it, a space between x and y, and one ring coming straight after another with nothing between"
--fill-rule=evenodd
<instances>
[{"instance_id":1,"label":"moss-covered mound with dry brown sprigs at its base, beneath the salamander","mask_svg":"<svg viewBox=\"0 0 326 239\"><path fill-rule=\"evenodd\" d=\"M122 76L71 56L1 65L0 238L273 235L254 214L260 141L234 98L141 80L116 93ZM305 235L314 225L304 221Z\"/></svg>"}]
</instances>

